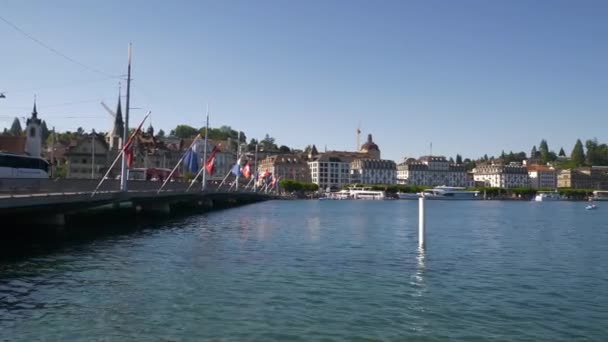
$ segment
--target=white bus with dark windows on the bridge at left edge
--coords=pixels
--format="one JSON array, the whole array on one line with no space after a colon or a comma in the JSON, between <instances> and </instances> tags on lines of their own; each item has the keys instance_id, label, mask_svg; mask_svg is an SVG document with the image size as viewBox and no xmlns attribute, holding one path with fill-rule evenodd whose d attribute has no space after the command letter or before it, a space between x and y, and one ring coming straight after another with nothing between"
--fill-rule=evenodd
<instances>
[{"instance_id":1,"label":"white bus with dark windows on the bridge at left edge","mask_svg":"<svg viewBox=\"0 0 608 342\"><path fill-rule=\"evenodd\" d=\"M49 163L42 158L0 152L0 178L49 178Z\"/></svg>"}]
</instances>

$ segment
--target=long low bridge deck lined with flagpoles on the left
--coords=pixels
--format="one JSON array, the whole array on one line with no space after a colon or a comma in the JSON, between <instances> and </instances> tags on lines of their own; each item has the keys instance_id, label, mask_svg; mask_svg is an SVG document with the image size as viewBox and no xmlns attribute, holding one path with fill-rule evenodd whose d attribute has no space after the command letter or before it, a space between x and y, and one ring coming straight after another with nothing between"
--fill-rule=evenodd
<instances>
[{"instance_id":1,"label":"long low bridge deck lined with flagpoles on the left","mask_svg":"<svg viewBox=\"0 0 608 342\"><path fill-rule=\"evenodd\" d=\"M126 207L133 215L167 215L184 207L204 211L274 198L252 190L218 189L216 185L202 191L200 183L188 189L190 183L185 182L167 183L159 192L160 182L129 181L129 190L120 191L118 180L106 180L93 194L98 183L94 179L0 178L0 220L64 225L66 218L92 210L111 212Z\"/></svg>"}]
</instances>

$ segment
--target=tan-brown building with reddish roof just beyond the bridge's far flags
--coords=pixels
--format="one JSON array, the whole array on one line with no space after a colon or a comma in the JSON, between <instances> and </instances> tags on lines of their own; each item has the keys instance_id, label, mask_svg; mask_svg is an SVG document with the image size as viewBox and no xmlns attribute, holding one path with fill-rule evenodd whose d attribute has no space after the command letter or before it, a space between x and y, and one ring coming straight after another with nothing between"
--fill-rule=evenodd
<instances>
[{"instance_id":1,"label":"tan-brown building with reddish roof just beyond the bridge's far flags","mask_svg":"<svg viewBox=\"0 0 608 342\"><path fill-rule=\"evenodd\" d=\"M252 161L253 162L253 161ZM252 166L253 167L253 166ZM291 179L300 182L311 182L308 163L295 154L278 154L258 161L258 174L269 172L278 179Z\"/></svg>"}]
</instances>

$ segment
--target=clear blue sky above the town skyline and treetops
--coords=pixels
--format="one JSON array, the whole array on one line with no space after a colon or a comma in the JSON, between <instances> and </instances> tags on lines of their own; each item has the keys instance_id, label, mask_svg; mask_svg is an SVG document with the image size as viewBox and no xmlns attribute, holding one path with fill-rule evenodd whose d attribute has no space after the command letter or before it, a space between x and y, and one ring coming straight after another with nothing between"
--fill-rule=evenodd
<instances>
[{"instance_id":1,"label":"clear blue sky above the town skyline and treetops","mask_svg":"<svg viewBox=\"0 0 608 342\"><path fill-rule=\"evenodd\" d=\"M107 131L133 43L131 126L229 125L248 139L384 158L476 158L545 138L607 141L606 1L0 0L0 127L31 112ZM94 72L92 69L103 71ZM107 75L106 75L107 74ZM123 87L124 90L124 87ZM124 95L124 93L123 93Z\"/></svg>"}]
</instances>

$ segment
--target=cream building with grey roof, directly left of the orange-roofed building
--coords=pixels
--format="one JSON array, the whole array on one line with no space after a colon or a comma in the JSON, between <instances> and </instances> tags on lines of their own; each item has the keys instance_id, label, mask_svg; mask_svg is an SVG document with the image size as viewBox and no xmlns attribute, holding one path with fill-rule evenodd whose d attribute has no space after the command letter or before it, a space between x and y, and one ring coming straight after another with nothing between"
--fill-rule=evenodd
<instances>
[{"instance_id":1,"label":"cream building with grey roof, directly left of the orange-roofed building","mask_svg":"<svg viewBox=\"0 0 608 342\"><path fill-rule=\"evenodd\" d=\"M528 169L511 163L509 165L479 165L473 170L476 183L495 188L518 188L530 186Z\"/></svg>"}]
</instances>

